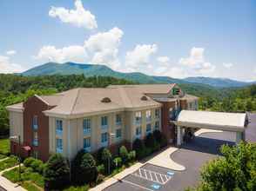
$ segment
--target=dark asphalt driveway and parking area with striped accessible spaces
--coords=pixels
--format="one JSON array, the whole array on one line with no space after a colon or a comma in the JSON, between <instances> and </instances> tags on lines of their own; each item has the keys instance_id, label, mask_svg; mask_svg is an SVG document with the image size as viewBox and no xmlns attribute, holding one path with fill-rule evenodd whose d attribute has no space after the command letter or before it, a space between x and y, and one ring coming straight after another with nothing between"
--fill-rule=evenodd
<instances>
[{"instance_id":1,"label":"dark asphalt driveway and parking area with striped accessible spaces","mask_svg":"<svg viewBox=\"0 0 256 191\"><path fill-rule=\"evenodd\" d=\"M185 188L195 186L199 182L200 168L206 161L210 161L219 155L219 147L222 144L233 145L235 137L235 134L230 132L199 135L192 142L184 144L171 155L173 161L185 166L185 171L175 171L147 163L138 171L127 175L124 179L104 190L183 191Z\"/></svg>"}]
</instances>

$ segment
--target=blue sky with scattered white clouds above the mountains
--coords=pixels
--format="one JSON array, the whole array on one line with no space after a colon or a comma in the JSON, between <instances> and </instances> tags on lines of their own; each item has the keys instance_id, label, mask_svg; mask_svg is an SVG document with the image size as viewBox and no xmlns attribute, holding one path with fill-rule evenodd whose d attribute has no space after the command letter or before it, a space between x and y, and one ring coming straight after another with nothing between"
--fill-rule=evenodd
<instances>
[{"instance_id":1,"label":"blue sky with scattered white clouds above the mountains","mask_svg":"<svg viewBox=\"0 0 256 191\"><path fill-rule=\"evenodd\" d=\"M256 81L256 0L1 0L0 73L48 62Z\"/></svg>"}]
</instances>

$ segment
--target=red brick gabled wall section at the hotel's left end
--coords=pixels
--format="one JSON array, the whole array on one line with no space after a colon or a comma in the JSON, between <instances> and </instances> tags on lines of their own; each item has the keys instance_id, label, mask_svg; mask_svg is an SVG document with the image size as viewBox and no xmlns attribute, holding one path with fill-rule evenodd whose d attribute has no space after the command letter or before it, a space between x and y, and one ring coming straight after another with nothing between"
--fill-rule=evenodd
<instances>
[{"instance_id":1,"label":"red brick gabled wall section at the hotel's left end","mask_svg":"<svg viewBox=\"0 0 256 191\"><path fill-rule=\"evenodd\" d=\"M45 102L37 98L30 97L24 102L24 145L30 146L32 155L33 151L38 152L38 158L47 161L49 157L49 117L44 115L42 111L50 109ZM37 115L37 136L38 146L33 146L33 116Z\"/></svg>"}]
</instances>

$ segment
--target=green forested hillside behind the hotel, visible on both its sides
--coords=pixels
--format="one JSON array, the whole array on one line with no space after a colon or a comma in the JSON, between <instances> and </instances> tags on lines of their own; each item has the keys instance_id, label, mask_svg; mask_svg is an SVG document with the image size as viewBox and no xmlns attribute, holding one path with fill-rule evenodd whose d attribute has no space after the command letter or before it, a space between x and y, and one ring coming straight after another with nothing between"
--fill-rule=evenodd
<instances>
[{"instance_id":1,"label":"green forested hillside behind the hotel, visible on both its sides","mask_svg":"<svg viewBox=\"0 0 256 191\"><path fill-rule=\"evenodd\" d=\"M17 76L0 74L0 135L8 135L6 106L23 102L29 96L51 95L77 87L103 88L110 84L134 82L109 76ZM256 110L256 85L242 89L216 89L199 83L180 83L186 93L200 97L200 109L244 112Z\"/></svg>"}]
</instances>

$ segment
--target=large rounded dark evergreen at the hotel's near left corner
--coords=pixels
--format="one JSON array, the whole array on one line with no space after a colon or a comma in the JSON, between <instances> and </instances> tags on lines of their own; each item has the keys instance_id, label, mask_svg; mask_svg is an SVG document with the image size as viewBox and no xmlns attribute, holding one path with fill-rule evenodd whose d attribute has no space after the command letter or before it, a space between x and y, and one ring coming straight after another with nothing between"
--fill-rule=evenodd
<instances>
[{"instance_id":1,"label":"large rounded dark evergreen at the hotel's near left corner","mask_svg":"<svg viewBox=\"0 0 256 191\"><path fill-rule=\"evenodd\" d=\"M64 188L70 182L70 168L62 155L51 155L44 168L44 181L50 189Z\"/></svg>"}]
</instances>

